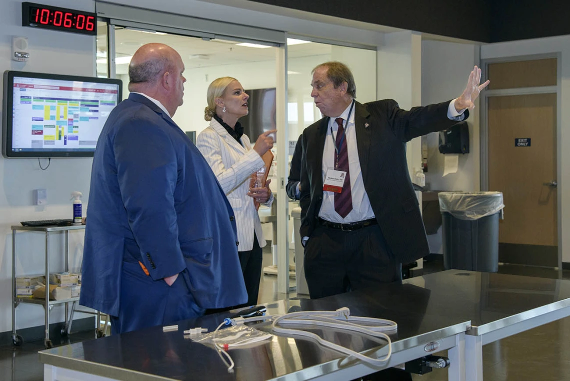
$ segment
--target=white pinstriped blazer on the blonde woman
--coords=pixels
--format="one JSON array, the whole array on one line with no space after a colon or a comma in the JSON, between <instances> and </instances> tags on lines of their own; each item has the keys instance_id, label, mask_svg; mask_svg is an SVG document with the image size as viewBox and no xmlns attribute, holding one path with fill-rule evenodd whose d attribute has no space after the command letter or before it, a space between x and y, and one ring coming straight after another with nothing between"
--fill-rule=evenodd
<instances>
[{"instance_id":1,"label":"white pinstriped blazer on the blonde woman","mask_svg":"<svg viewBox=\"0 0 570 381\"><path fill-rule=\"evenodd\" d=\"M259 154L251 149L249 137L243 135L241 141L243 147L217 120L212 119L209 127L198 135L196 147L210 164L234 209L235 224L238 228L238 251L246 252L253 248L254 231L259 246L263 248L266 245L254 200L247 196L251 174L264 163ZM263 205L271 206L272 202L271 196Z\"/></svg>"}]
</instances>

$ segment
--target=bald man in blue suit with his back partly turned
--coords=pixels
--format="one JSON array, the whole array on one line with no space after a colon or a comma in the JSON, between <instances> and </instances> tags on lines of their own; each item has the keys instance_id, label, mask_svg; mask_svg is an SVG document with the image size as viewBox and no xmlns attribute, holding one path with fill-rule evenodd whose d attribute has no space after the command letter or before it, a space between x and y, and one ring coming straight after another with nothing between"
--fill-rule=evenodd
<instances>
[{"instance_id":1,"label":"bald man in blue suit with his back partly turned","mask_svg":"<svg viewBox=\"0 0 570 381\"><path fill-rule=\"evenodd\" d=\"M91 173L80 304L113 333L245 303L232 208L174 123L184 63L164 44L137 50L129 91L99 136Z\"/></svg>"}]
</instances>

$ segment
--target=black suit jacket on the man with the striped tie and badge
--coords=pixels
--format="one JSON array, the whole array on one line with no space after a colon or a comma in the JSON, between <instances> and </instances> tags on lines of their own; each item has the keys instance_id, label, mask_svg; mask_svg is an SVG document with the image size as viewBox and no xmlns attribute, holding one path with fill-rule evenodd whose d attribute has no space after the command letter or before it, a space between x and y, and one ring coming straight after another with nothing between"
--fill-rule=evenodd
<instances>
[{"instance_id":1,"label":"black suit jacket on the man with the striped tie and badge","mask_svg":"<svg viewBox=\"0 0 570 381\"><path fill-rule=\"evenodd\" d=\"M416 193L408 173L406 142L457 123L450 102L402 110L393 99L355 104L355 128L364 188L388 249L398 262L429 254ZM465 118L469 112L465 111ZM367 125L368 124L368 125ZM328 117L302 135L301 237L311 237L323 202L323 149Z\"/></svg>"}]
</instances>

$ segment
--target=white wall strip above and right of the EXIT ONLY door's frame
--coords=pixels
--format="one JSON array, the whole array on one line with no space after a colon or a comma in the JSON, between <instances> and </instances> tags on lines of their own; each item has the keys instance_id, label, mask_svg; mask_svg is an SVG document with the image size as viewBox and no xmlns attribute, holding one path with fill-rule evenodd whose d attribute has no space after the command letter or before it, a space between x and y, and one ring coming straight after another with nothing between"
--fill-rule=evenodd
<instances>
[{"instance_id":1,"label":"white wall strip above and right of the EXIT ONLY door's frame","mask_svg":"<svg viewBox=\"0 0 570 381\"><path fill-rule=\"evenodd\" d=\"M528 56L535 54L560 54L561 56L561 96L558 118L561 126L558 139L558 205L560 221L559 250L562 261L570 262L570 151L564 149L570 145L570 36L538 38L506 43L488 44L481 47L481 59Z\"/></svg>"}]
</instances>

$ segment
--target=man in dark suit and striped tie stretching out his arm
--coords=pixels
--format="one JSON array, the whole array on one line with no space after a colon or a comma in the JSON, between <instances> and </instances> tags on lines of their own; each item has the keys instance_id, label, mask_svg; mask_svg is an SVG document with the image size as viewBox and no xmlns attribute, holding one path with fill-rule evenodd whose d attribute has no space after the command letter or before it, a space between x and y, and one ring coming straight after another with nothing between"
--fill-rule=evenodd
<instances>
[{"instance_id":1,"label":"man in dark suit and striped tie stretching out his arm","mask_svg":"<svg viewBox=\"0 0 570 381\"><path fill-rule=\"evenodd\" d=\"M302 135L304 270L311 298L401 279L401 264L429 254L406 161L406 142L469 116L479 91L474 67L452 101L401 110L392 99L355 101L351 71L317 66L311 96L325 116Z\"/></svg>"}]
</instances>

